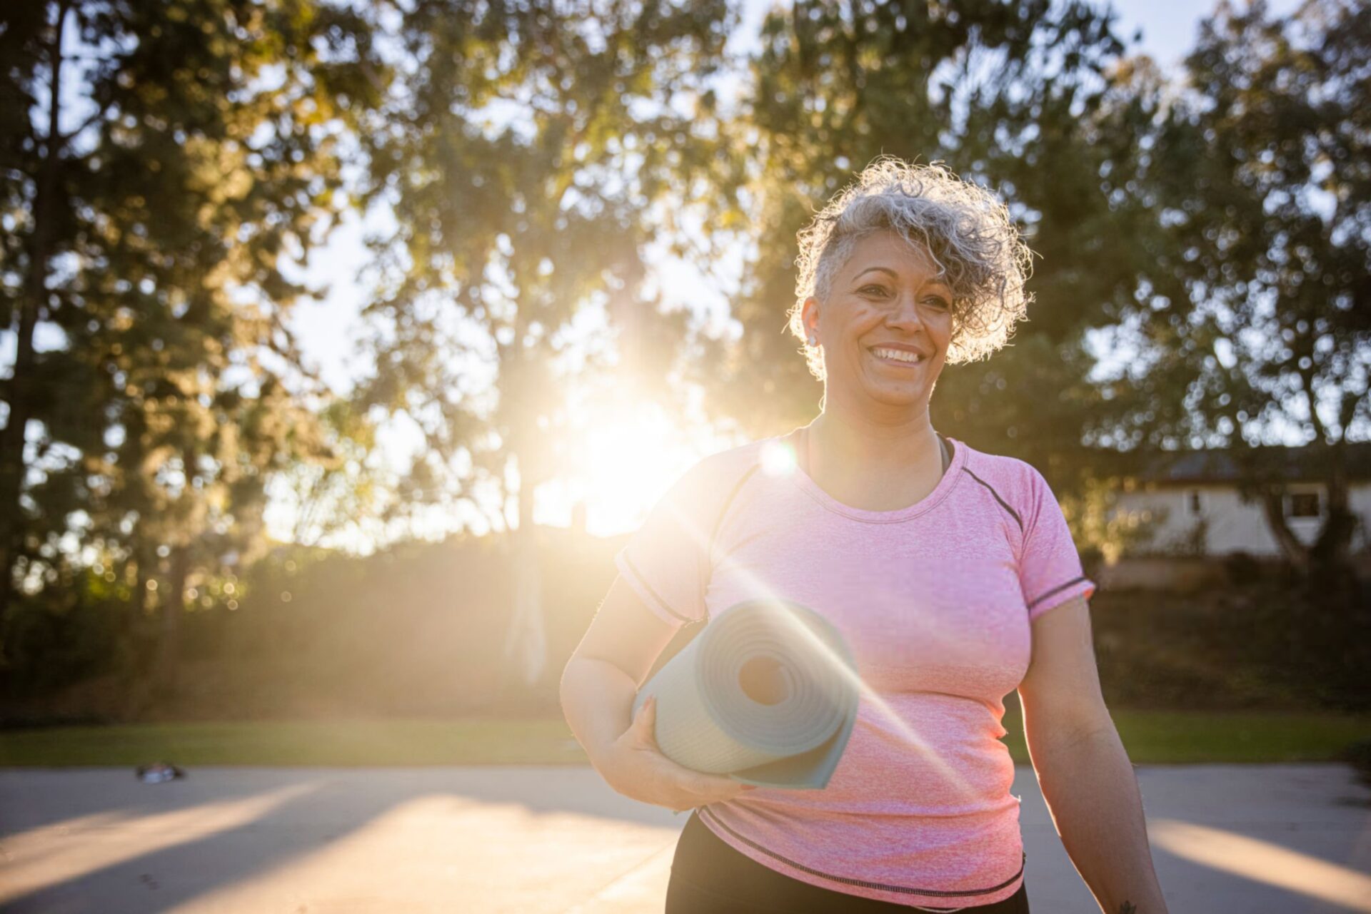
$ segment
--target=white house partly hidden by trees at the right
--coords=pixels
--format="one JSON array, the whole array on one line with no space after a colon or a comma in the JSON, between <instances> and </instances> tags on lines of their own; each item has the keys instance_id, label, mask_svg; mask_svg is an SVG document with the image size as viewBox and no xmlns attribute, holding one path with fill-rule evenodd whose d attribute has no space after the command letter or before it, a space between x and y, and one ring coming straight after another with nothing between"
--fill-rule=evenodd
<instances>
[{"instance_id":1,"label":"white house partly hidden by trees at the right","mask_svg":"<svg viewBox=\"0 0 1371 914\"><path fill-rule=\"evenodd\" d=\"M1357 515L1352 551L1371 545L1371 443L1348 448L1348 507ZM1328 510L1326 486L1308 469L1307 448L1285 448L1286 522L1305 545L1313 544ZM1131 475L1119 493L1117 511L1150 517L1152 539L1131 555L1223 556L1246 552L1276 558L1281 547L1271 536L1260 503L1238 496L1239 469L1224 451L1178 451L1154 455Z\"/></svg>"}]
</instances>

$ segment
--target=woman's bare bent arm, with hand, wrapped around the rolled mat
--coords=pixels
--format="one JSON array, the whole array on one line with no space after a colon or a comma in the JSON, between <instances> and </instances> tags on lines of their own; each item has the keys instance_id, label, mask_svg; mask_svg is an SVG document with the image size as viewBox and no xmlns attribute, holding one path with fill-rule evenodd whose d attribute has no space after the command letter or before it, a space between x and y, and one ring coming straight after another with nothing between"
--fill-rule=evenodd
<instances>
[{"instance_id":1,"label":"woman's bare bent arm, with hand, wrapped around the rolled mat","mask_svg":"<svg viewBox=\"0 0 1371 914\"><path fill-rule=\"evenodd\" d=\"M675 634L621 577L562 671L566 724L600 777L635 800L675 810L729 800L747 785L672 762L657 748L657 703L633 697Z\"/></svg>"}]
</instances>

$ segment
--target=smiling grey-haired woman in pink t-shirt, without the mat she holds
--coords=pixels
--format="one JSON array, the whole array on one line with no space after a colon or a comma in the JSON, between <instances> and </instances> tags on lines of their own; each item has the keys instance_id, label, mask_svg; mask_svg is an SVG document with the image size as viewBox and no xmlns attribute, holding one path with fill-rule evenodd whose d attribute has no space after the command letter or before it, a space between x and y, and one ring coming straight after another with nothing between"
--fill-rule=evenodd
<instances>
[{"instance_id":1,"label":"smiling grey-haired woman in pink t-shirt, without the mat she holds","mask_svg":"<svg viewBox=\"0 0 1371 914\"><path fill-rule=\"evenodd\" d=\"M799 243L790 326L824 382L820 415L706 458L664 496L562 677L566 719L605 780L695 810L668 914L1027 911L999 741L1015 688L1042 792L1101 910L1165 911L1100 693L1094 584L1061 508L1034 467L928 418L943 365L991 354L1026 315L1030 254L1008 211L941 167L883 158ZM824 614L862 677L823 791L691 771L657 750L651 702L629 719L681 625L757 596Z\"/></svg>"}]
</instances>

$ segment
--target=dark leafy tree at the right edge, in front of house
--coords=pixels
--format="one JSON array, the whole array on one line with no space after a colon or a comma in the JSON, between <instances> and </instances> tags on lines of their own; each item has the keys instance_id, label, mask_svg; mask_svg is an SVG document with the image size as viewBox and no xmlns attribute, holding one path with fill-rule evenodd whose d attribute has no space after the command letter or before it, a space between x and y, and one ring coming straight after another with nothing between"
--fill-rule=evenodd
<instances>
[{"instance_id":1,"label":"dark leafy tree at the right edge, in front of house","mask_svg":"<svg viewBox=\"0 0 1371 914\"><path fill-rule=\"evenodd\" d=\"M1100 417L1115 444L1230 448L1286 556L1345 566L1345 445L1371 419L1371 8L1220 4L1186 74L1143 103L1130 188L1154 219L1117 314L1138 358L1101 384ZM1311 547L1285 518L1287 467L1253 447L1290 429L1328 492Z\"/></svg>"}]
</instances>

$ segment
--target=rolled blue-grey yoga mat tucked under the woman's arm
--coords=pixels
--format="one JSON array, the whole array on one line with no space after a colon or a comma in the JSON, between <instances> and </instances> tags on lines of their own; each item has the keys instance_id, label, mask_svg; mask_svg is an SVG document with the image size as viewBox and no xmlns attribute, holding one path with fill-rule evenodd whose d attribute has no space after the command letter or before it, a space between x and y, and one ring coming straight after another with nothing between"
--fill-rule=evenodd
<instances>
[{"instance_id":1,"label":"rolled blue-grey yoga mat tucked under the woman's arm","mask_svg":"<svg viewBox=\"0 0 1371 914\"><path fill-rule=\"evenodd\" d=\"M720 613L633 700L657 696L657 745L743 784L821 789L857 719L857 673L836 629L790 600Z\"/></svg>"}]
</instances>

